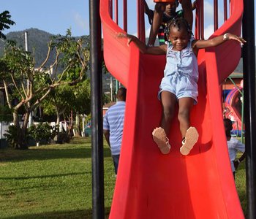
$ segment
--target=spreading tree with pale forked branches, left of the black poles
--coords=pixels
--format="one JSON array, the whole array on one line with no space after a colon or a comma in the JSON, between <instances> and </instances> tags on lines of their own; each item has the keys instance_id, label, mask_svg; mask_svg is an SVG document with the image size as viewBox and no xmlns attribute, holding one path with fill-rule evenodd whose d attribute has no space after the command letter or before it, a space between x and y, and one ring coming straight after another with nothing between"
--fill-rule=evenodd
<instances>
[{"instance_id":1,"label":"spreading tree with pale forked branches, left of the black poles","mask_svg":"<svg viewBox=\"0 0 256 219\"><path fill-rule=\"evenodd\" d=\"M50 69L46 69L50 53L55 53L56 59ZM34 68L31 53L13 42L7 44L4 56L0 58L0 80L4 85L8 106L12 110L14 126L18 129L18 112L21 107L25 109L23 126L19 132L20 142L16 144L18 148L27 147L23 139L26 136L29 114L60 85L76 85L83 80L88 64L89 42L85 37L75 40L69 30L65 36L58 35L48 43L48 54L38 69ZM76 74L72 74L73 72Z\"/></svg>"}]
</instances>

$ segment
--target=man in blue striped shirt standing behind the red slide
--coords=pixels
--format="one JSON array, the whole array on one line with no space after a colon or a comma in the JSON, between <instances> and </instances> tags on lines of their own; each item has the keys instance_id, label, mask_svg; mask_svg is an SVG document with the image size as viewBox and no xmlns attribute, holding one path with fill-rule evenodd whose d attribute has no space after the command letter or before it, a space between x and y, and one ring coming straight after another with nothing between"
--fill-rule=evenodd
<instances>
[{"instance_id":1,"label":"man in blue striped shirt standing behind the red slide","mask_svg":"<svg viewBox=\"0 0 256 219\"><path fill-rule=\"evenodd\" d=\"M110 146L116 174L123 137L126 96L127 89L119 88L116 93L116 104L108 109L103 120L103 133Z\"/></svg>"}]
</instances>

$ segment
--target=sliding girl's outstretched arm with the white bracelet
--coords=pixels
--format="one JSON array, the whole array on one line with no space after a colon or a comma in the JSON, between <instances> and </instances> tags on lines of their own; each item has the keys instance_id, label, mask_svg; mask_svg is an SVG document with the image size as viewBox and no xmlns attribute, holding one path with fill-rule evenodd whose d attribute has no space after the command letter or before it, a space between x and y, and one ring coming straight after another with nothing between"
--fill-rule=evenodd
<instances>
[{"instance_id":1,"label":"sliding girl's outstretched arm with the white bracelet","mask_svg":"<svg viewBox=\"0 0 256 219\"><path fill-rule=\"evenodd\" d=\"M221 45L223 42L226 42L227 40L230 40L230 39L236 40L236 41L240 42L241 44L244 44L246 42L241 37L238 37L234 34L227 33L224 35L220 35L218 37L214 37L212 39L194 40L192 42L192 47L193 47L193 50L199 50L199 49L203 49L206 47L215 47L217 45Z\"/></svg>"}]
</instances>

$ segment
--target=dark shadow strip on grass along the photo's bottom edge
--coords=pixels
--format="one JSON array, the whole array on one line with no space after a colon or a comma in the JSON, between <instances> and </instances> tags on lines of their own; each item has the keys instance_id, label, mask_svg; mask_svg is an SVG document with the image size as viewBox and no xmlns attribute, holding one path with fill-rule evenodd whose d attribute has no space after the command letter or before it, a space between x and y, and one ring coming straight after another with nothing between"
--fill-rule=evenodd
<instances>
[{"instance_id":1,"label":"dark shadow strip on grass along the photo's bottom edge","mask_svg":"<svg viewBox=\"0 0 256 219\"><path fill-rule=\"evenodd\" d=\"M105 218L108 218L110 212L110 207L105 208ZM83 218L83 219L89 219L92 218L92 210L77 210L77 211L56 211L56 212L43 212L39 214L26 214L26 215L16 215L13 217L8 217L10 219L35 219L35 218L48 218L48 219L53 219L53 218ZM7 218L3 218L7 219Z\"/></svg>"}]
</instances>

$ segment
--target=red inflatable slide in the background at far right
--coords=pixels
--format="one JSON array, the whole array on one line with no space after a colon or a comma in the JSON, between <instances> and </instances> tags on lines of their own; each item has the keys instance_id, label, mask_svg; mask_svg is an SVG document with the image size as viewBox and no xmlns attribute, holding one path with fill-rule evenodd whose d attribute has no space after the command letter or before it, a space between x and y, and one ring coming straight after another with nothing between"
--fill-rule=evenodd
<instances>
[{"instance_id":1,"label":"red inflatable slide in the background at far right","mask_svg":"<svg viewBox=\"0 0 256 219\"><path fill-rule=\"evenodd\" d=\"M233 88L225 99L225 118L230 118L233 123L233 134L241 134L241 93L238 88Z\"/></svg>"}]
</instances>

